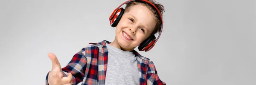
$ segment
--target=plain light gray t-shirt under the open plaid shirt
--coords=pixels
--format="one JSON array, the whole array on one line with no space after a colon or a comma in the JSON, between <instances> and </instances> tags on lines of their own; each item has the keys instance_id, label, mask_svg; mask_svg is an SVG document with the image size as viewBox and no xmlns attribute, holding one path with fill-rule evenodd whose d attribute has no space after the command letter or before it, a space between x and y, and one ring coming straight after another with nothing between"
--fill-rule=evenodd
<instances>
[{"instance_id":1,"label":"plain light gray t-shirt under the open plaid shirt","mask_svg":"<svg viewBox=\"0 0 256 85\"><path fill-rule=\"evenodd\" d=\"M109 44L105 85L139 85L137 57L131 51L122 51Z\"/></svg>"}]
</instances>

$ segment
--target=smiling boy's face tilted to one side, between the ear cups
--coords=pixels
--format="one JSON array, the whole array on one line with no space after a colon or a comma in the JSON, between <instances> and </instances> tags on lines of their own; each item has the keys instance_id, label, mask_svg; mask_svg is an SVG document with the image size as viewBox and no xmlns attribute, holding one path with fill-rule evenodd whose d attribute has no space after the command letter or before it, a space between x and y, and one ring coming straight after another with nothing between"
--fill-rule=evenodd
<instances>
[{"instance_id":1,"label":"smiling boy's face tilted to one side, between the ear cups","mask_svg":"<svg viewBox=\"0 0 256 85\"><path fill-rule=\"evenodd\" d=\"M153 13L142 5L126 11L116 26L116 41L121 49L132 51L147 39L154 29L156 21Z\"/></svg>"}]
</instances>

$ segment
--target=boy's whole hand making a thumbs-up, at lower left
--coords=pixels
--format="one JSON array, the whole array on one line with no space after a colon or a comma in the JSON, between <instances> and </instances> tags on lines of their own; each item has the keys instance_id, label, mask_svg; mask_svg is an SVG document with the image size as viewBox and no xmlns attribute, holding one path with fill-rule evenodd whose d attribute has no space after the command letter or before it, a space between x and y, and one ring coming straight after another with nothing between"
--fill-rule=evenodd
<instances>
[{"instance_id":1,"label":"boy's whole hand making a thumbs-up, at lower left","mask_svg":"<svg viewBox=\"0 0 256 85\"><path fill-rule=\"evenodd\" d=\"M72 74L69 73L67 77L63 77L61 65L55 54L48 53L48 57L52 60L52 70L48 75L49 85L72 85Z\"/></svg>"}]
</instances>

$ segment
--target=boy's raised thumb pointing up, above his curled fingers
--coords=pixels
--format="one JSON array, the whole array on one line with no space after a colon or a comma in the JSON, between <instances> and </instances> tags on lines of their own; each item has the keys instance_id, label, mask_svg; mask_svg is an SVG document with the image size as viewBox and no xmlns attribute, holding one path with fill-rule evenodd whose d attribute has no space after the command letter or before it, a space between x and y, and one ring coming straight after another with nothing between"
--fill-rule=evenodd
<instances>
[{"instance_id":1,"label":"boy's raised thumb pointing up, above his curled fingers","mask_svg":"<svg viewBox=\"0 0 256 85\"><path fill-rule=\"evenodd\" d=\"M48 57L52 61L52 70L55 71L61 71L61 65L60 62L58 61L57 57L53 53L48 53Z\"/></svg>"}]
</instances>

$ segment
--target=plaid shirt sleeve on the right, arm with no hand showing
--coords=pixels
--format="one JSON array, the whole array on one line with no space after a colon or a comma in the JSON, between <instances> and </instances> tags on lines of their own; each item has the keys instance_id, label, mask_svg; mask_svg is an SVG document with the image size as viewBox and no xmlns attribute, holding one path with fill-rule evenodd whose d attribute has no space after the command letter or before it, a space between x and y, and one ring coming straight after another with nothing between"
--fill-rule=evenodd
<instances>
[{"instance_id":1,"label":"plaid shirt sleeve on the right, arm with no hand showing","mask_svg":"<svg viewBox=\"0 0 256 85\"><path fill-rule=\"evenodd\" d=\"M166 85L166 83L158 77L156 67L152 61L148 62L147 79L148 85Z\"/></svg>"}]
</instances>

